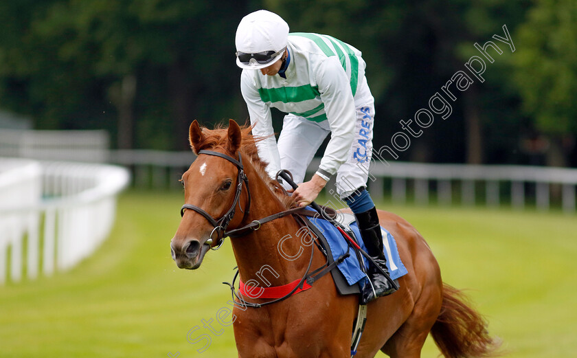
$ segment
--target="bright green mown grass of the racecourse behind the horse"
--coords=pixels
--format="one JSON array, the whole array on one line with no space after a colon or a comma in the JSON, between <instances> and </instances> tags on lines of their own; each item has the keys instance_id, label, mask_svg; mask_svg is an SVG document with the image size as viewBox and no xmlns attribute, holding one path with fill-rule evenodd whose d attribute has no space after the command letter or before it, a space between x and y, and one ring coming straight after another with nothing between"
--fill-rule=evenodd
<instances>
[{"instance_id":1,"label":"bright green mown grass of the racecourse behind the horse","mask_svg":"<svg viewBox=\"0 0 577 358\"><path fill-rule=\"evenodd\" d=\"M227 307L235 266L229 243L196 271L179 270L170 238L181 194L128 192L111 238L88 260L51 278L0 287L0 357L236 357ZM479 208L380 208L427 238L443 278L471 297L504 340L507 357L577 353L577 218ZM79 238L81 239L81 238ZM211 333L203 327L214 320ZM207 343L187 341L201 333ZM436 357L429 339L423 357Z\"/></svg>"}]
</instances>

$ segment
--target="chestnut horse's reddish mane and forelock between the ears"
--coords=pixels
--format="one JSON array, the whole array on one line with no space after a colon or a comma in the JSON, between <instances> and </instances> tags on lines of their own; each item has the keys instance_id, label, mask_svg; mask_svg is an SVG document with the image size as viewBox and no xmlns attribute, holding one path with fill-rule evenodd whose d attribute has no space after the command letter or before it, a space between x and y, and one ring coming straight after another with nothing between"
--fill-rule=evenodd
<instances>
[{"instance_id":1,"label":"chestnut horse's reddish mane and forelock between the ears","mask_svg":"<svg viewBox=\"0 0 577 358\"><path fill-rule=\"evenodd\" d=\"M199 148L221 149L227 153L227 155L234 157L234 153L230 153L230 150L227 146L228 128L225 127L224 124L216 124L214 129L203 127L202 131L203 138L201 139L201 142L198 143ZM256 143L266 139L266 137L257 137L253 135L251 131L252 126L247 124L240 126L241 140L240 148L238 151L242 154L242 159L248 158L251 161L253 167L256 169L260 179L262 179L264 183L267 183L272 192L276 195L276 197L278 197L282 205L284 205L284 207L287 209L291 208L294 205L293 199L291 199L291 197L286 194L286 191L284 188L282 188L278 181L275 181L269 177L269 174L266 170L268 163L258 156Z\"/></svg>"}]
</instances>

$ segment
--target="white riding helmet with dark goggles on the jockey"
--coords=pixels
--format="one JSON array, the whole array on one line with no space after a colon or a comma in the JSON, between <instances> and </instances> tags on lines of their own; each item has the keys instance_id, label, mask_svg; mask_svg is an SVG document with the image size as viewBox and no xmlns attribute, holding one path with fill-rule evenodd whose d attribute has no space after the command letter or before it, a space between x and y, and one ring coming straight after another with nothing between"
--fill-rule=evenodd
<instances>
[{"instance_id":1,"label":"white riding helmet with dark goggles on the jockey","mask_svg":"<svg viewBox=\"0 0 577 358\"><path fill-rule=\"evenodd\" d=\"M288 43L288 24L277 14L258 10L243 17L236 29L236 65L262 69L280 60Z\"/></svg>"}]
</instances>

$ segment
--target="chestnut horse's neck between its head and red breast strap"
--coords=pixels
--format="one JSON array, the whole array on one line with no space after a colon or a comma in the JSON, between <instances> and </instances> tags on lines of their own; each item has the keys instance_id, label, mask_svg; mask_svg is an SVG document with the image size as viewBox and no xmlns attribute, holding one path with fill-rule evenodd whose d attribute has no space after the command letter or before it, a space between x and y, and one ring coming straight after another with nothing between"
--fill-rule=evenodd
<instances>
[{"instance_id":1,"label":"chestnut horse's neck between its head and red breast strap","mask_svg":"<svg viewBox=\"0 0 577 358\"><path fill-rule=\"evenodd\" d=\"M251 170L252 171L252 170ZM247 222L286 210L267 184L249 173L252 205ZM243 282L277 286L301 278L313 247L301 243L301 226L292 215L262 224L258 230L231 240ZM301 230L302 231L302 230ZM306 240L303 240L306 242Z\"/></svg>"}]
</instances>

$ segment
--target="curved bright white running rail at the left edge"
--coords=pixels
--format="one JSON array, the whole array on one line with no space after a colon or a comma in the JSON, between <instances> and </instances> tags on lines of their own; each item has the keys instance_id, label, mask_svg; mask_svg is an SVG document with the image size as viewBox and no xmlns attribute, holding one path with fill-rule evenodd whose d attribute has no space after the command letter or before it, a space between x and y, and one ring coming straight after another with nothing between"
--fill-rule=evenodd
<instances>
[{"instance_id":1,"label":"curved bright white running rail at the left edge","mask_svg":"<svg viewBox=\"0 0 577 358\"><path fill-rule=\"evenodd\" d=\"M49 276L108 236L124 168L0 158L0 284Z\"/></svg>"}]
</instances>

